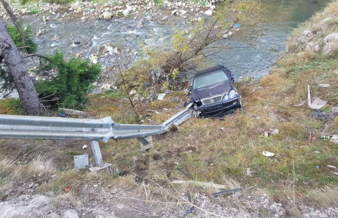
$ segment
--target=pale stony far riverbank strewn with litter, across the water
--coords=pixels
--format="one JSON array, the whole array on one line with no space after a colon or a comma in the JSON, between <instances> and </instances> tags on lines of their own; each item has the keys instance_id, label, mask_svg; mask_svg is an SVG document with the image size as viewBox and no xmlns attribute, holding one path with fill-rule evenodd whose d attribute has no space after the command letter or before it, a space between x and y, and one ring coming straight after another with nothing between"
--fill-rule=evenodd
<instances>
[{"instance_id":1,"label":"pale stony far riverbank strewn with litter, across the water","mask_svg":"<svg viewBox=\"0 0 338 218\"><path fill-rule=\"evenodd\" d=\"M215 3L218 0L212 1L111 1L104 2L82 2L76 1L67 5L45 3L41 0L37 3L29 2L25 5L20 5L17 1L12 1L11 6L15 15L38 15L48 13L48 17L54 17L59 20L80 18L82 22L87 19L106 19L110 20L113 17L133 17L136 19L139 15L145 14L148 20L168 20L172 16L180 16L185 19L191 15L198 19L201 14L211 16L216 9ZM0 15L4 20L8 20L3 8L0 7Z\"/></svg>"}]
</instances>

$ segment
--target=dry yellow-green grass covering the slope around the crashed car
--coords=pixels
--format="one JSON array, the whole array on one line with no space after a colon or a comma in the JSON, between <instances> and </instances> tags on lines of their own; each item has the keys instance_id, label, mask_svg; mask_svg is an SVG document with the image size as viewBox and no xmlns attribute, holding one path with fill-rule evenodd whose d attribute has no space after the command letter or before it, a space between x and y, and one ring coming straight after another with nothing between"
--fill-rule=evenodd
<instances>
[{"instance_id":1,"label":"dry yellow-green grass covering the slope around the crashed car","mask_svg":"<svg viewBox=\"0 0 338 218\"><path fill-rule=\"evenodd\" d=\"M332 8L338 8L337 4L332 3L326 9L327 16L336 13ZM320 23L320 19L314 22ZM311 23L312 21L309 21L295 31L290 45L299 37L303 27ZM313 98L319 97L328 101L322 111L330 113L331 107L338 106L337 74L337 59L311 51L286 53L277 61L270 74L259 82L238 84L245 107L234 115L226 116L224 120L191 118L179 131L155 137L154 150L144 154L139 152L137 140L110 140L107 144L101 144L103 158L106 162L114 164L116 172L136 175L137 181L168 178L226 184L233 179L244 186L257 185L264 190L268 189L271 196L279 200L292 196L292 185L295 182L296 196L308 199L303 196L308 196L311 190L338 183L338 177L332 174L334 170L326 167L338 166L338 144L319 139L322 134L336 134L337 129L334 128L333 116L326 122L318 121L311 117L312 111L306 104L301 107L293 105L306 100L309 84ZM322 83L330 84L330 87L319 88L318 84ZM252 92L256 87L263 89ZM148 119L161 123L178 112L177 106L186 100L187 97L176 93L167 95L163 101L142 103L137 105L137 108L145 123ZM14 105L17 105L16 102L2 100L0 110L3 113L18 113L17 106ZM11 109L13 107L14 110ZM167 113L162 108L168 108L170 111ZM87 110L94 117L112 116L116 122L135 122L126 95L116 91L92 95ZM156 110L161 114L156 114ZM220 129L221 127L223 129ZM279 134L262 137L264 131L275 128L279 129ZM316 136L317 140L310 141L310 136ZM16 155L22 149L20 142L15 147L12 147L11 141L2 140L0 143L8 147L5 149L9 151L6 155ZM36 144L39 146L41 141ZM60 142L60 145L65 144ZM83 154L83 142L66 146L70 148L64 151L61 147L56 149L57 146L53 144L45 153L47 156L53 156L55 153L58 157L55 161L58 162L57 166L52 167L51 171L45 170L46 176L54 174L55 169L61 171L58 173L59 179L43 185L42 191L62 192L60 187L72 185L75 188L79 185L75 181L79 179L93 179L91 174L84 177L83 172L64 172L64 167L68 166L72 155ZM275 156L264 157L262 151L273 152ZM314 151L319 154L313 153ZM133 160L136 160L136 164ZM25 167L21 163L6 160L0 165L5 169L0 171L0 184L3 185L6 184L6 178L10 178L12 182L23 182L32 179L31 175L35 172L34 167L32 168L34 165ZM189 176L179 172L179 168ZM252 177L245 174L247 168L253 171ZM14 169L25 169L25 173L20 177L18 175L21 174ZM105 176L106 174L102 174L100 179L104 180ZM94 179L98 179L97 175ZM40 180L43 179L40 177ZM111 182L110 179L107 181ZM55 190L54 183L59 187L58 190ZM337 197L336 192L334 199Z\"/></svg>"}]
</instances>

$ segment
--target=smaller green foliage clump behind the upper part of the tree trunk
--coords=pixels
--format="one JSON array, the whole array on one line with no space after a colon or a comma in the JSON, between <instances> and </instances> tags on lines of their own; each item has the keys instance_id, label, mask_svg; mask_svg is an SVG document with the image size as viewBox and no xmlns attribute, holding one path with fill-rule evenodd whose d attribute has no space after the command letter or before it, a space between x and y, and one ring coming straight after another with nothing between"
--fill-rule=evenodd
<instances>
[{"instance_id":1,"label":"smaller green foliage clump behind the upper part of the tree trunk","mask_svg":"<svg viewBox=\"0 0 338 218\"><path fill-rule=\"evenodd\" d=\"M19 25L23 26L21 21L19 22ZM37 44L33 40L33 32L30 26L27 26L27 28L21 28L23 30L23 36L19 33L18 29L15 26L6 25L6 29L17 47L28 46L26 48L26 51L29 54L37 51Z\"/></svg>"}]
</instances>

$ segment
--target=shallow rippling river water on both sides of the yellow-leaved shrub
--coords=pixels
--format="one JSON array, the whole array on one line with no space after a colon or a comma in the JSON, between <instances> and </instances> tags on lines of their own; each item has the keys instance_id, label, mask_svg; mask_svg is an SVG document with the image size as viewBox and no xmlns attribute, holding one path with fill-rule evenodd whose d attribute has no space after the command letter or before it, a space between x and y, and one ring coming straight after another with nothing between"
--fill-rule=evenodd
<instances>
[{"instance_id":1,"label":"shallow rippling river water on both sides of the yellow-leaved shrub","mask_svg":"<svg viewBox=\"0 0 338 218\"><path fill-rule=\"evenodd\" d=\"M243 27L240 34L227 40L230 46L237 48L220 50L209 57L208 65L224 64L237 78L259 78L266 75L280 52L285 50L285 41L293 29L310 18L314 12L323 9L328 2L261 0L262 6L266 8L261 23L250 28ZM140 50L141 44L154 46L163 40L169 40L175 28L188 26L191 18L173 18L172 21L161 22L148 21L145 15L142 15L137 19L88 20L85 23L81 23L79 19L70 19L67 22L52 20L47 24L32 16L26 17L26 20L31 23L33 31L48 29L47 33L35 38L40 53L52 54L59 49L66 57L79 52L88 57L98 45L106 43L123 50L127 48L137 51ZM50 28L50 25L53 28ZM88 40L89 43L83 46L71 46L74 41L83 43ZM109 58L99 58L98 61L103 66L109 66Z\"/></svg>"}]
</instances>

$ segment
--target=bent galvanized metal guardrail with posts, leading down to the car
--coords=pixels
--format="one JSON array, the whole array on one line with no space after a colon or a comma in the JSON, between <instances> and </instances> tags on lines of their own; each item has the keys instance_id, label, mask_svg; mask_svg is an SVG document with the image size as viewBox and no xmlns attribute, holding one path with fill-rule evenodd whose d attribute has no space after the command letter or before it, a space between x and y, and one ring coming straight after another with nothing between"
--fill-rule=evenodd
<instances>
[{"instance_id":1,"label":"bent galvanized metal guardrail with posts, leading down to the car","mask_svg":"<svg viewBox=\"0 0 338 218\"><path fill-rule=\"evenodd\" d=\"M192 116L190 103L184 110L172 116L161 125L137 125L115 123L111 117L102 119L74 119L61 117L38 117L0 115L0 138L2 139L56 139L91 141L96 164L106 165L97 141L109 139L137 138L141 150L152 147L149 136L167 132L172 125L180 125Z\"/></svg>"}]
</instances>

